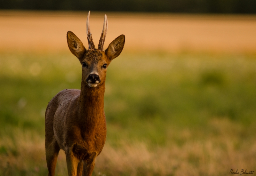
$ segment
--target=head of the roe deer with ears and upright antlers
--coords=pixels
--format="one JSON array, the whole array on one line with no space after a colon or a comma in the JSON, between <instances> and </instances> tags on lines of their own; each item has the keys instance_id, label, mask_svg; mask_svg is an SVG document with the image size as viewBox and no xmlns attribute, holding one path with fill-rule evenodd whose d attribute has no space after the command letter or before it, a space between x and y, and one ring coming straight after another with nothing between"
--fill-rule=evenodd
<instances>
[{"instance_id":1,"label":"head of the roe deer with ears and upright antlers","mask_svg":"<svg viewBox=\"0 0 256 176\"><path fill-rule=\"evenodd\" d=\"M108 20L105 14L103 30L100 36L98 49L92 41L92 34L90 33L90 11L87 16L87 39L89 48L85 49L83 43L71 31L67 33L67 41L69 50L78 58L82 65L82 81L89 87L96 87L101 85L106 80L107 67L110 62L115 59L122 52L124 48L125 36L120 35L113 40L108 48L104 51L103 45L108 30Z\"/></svg>"}]
</instances>

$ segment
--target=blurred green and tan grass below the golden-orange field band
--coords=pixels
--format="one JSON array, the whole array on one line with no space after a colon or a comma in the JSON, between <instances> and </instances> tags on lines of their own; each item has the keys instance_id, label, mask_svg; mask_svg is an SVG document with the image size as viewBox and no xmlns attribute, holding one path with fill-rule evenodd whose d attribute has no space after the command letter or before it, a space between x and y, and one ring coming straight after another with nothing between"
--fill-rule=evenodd
<instances>
[{"instance_id":1,"label":"blurred green and tan grass below the golden-orange field band","mask_svg":"<svg viewBox=\"0 0 256 176\"><path fill-rule=\"evenodd\" d=\"M0 53L0 175L47 175L45 108L80 84L69 51ZM108 67L107 141L93 175L254 170L255 90L255 54L124 51ZM67 175L63 151L56 175Z\"/></svg>"}]
</instances>

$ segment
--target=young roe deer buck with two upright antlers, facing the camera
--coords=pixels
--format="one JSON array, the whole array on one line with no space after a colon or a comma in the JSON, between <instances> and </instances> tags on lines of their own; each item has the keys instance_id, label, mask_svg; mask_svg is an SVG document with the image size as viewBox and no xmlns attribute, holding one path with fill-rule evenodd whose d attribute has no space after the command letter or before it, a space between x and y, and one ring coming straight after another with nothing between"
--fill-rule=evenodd
<instances>
[{"instance_id":1,"label":"young roe deer buck with two upright antlers, facing the camera","mask_svg":"<svg viewBox=\"0 0 256 176\"><path fill-rule=\"evenodd\" d=\"M98 49L92 41L87 16L86 50L77 36L68 31L69 50L82 65L81 91L65 89L49 102L45 112L45 155L49 176L54 175L60 149L66 154L68 175L91 176L95 159L106 141L104 91L107 67L123 50L125 36L120 35L103 51L108 30L105 15Z\"/></svg>"}]
</instances>

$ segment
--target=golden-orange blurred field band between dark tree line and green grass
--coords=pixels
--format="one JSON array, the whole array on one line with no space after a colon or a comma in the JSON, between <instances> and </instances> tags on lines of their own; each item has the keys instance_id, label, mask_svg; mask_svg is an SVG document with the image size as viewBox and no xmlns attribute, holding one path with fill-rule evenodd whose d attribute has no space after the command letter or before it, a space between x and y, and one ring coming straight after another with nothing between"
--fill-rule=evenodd
<instances>
[{"instance_id":1,"label":"golden-orange blurred field band between dark tree line and green grass","mask_svg":"<svg viewBox=\"0 0 256 176\"><path fill-rule=\"evenodd\" d=\"M91 12L90 26L98 44L104 12ZM255 15L189 15L107 12L105 48L117 36L126 36L126 50L177 52L254 52ZM67 50L71 30L84 42L87 12L0 11L1 49Z\"/></svg>"}]
</instances>

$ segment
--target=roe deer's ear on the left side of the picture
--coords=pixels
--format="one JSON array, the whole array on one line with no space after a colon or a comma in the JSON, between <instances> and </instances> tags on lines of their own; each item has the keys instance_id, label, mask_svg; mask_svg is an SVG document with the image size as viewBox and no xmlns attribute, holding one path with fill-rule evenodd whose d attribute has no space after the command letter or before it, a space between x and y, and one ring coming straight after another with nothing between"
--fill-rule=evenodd
<instances>
[{"instance_id":1,"label":"roe deer's ear on the left side of the picture","mask_svg":"<svg viewBox=\"0 0 256 176\"><path fill-rule=\"evenodd\" d=\"M69 50L80 60L83 58L86 49L79 38L71 31L67 33L67 41Z\"/></svg>"}]
</instances>

